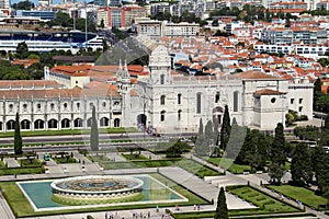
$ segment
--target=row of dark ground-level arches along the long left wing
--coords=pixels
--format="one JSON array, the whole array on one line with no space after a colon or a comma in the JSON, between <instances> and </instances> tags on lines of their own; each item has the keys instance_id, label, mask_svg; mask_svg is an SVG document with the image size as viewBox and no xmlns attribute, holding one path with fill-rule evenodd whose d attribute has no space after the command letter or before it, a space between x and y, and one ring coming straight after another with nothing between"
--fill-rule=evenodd
<instances>
[{"instance_id":1,"label":"row of dark ground-level arches along the long left wing","mask_svg":"<svg viewBox=\"0 0 329 219\"><path fill-rule=\"evenodd\" d=\"M30 122L29 119L23 119L21 120L21 129L22 130L29 130L32 129L32 126L34 129L45 129L45 125L47 125L48 128L82 128L84 127L84 123L87 123L87 127L91 127L92 124L92 118L88 118L87 120L83 120L82 118L76 118L73 120L70 120L68 118L64 118L61 120L57 120L55 118L44 122L42 119L36 119L35 122ZM120 118L115 118L113 120L113 126L114 127L120 127L121 120ZM2 123L0 122L0 130L2 130ZM110 118L107 117L102 117L100 119L100 127L109 127L110 126ZM9 120L5 123L5 128L7 130L13 130L15 128L15 122L13 119Z\"/></svg>"}]
</instances>

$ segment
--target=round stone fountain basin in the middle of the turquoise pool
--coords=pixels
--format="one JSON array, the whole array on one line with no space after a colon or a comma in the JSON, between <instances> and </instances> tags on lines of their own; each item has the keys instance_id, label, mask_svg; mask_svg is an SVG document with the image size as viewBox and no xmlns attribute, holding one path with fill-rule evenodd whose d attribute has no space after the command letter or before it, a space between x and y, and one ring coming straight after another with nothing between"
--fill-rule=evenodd
<instances>
[{"instance_id":1,"label":"round stone fountain basin in the middle of the turquoise pool","mask_svg":"<svg viewBox=\"0 0 329 219\"><path fill-rule=\"evenodd\" d=\"M139 195L144 182L133 176L88 175L54 181L53 195L66 200L120 201Z\"/></svg>"}]
</instances>

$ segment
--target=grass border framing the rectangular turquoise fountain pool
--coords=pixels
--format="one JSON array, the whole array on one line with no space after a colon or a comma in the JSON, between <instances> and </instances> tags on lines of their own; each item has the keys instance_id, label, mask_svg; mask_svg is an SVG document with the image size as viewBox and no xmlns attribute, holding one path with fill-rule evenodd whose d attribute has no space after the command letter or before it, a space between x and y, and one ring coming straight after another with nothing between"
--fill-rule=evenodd
<instances>
[{"instance_id":1,"label":"grass border framing the rectangular turquoise fountain pool","mask_svg":"<svg viewBox=\"0 0 329 219\"><path fill-rule=\"evenodd\" d=\"M203 198L194 195L188 189L183 188L180 185L177 185L174 182L169 178L159 175L151 174L155 178L167 183L172 189L175 189L181 195L189 198L186 203L177 203L180 206L183 205L205 205L208 204ZM21 192L21 189L16 186L15 182L1 182L0 188L3 192L3 195L13 209L13 212L16 217L37 217L37 216L50 216L50 215L65 215L65 214L76 214L76 212L93 212L93 211L113 211L113 210L126 210L126 209L140 209L140 208L156 208L156 204L145 204L145 205L128 205L128 206L111 206L111 207L93 207L93 208L80 208L80 209L71 209L71 210L52 210L52 211L34 211L30 206L30 203ZM158 204L159 207L173 207L174 204Z\"/></svg>"}]
</instances>

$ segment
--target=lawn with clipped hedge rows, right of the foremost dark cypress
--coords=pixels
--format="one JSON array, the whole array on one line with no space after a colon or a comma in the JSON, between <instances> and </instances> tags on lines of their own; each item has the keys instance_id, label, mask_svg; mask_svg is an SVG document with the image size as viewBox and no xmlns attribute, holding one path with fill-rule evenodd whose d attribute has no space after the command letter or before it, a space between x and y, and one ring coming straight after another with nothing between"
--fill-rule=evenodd
<instances>
[{"instance_id":1,"label":"lawn with clipped hedge rows, right of the foremost dark cypress","mask_svg":"<svg viewBox=\"0 0 329 219\"><path fill-rule=\"evenodd\" d=\"M293 206L286 205L275 198L272 198L262 192L250 186L228 186L228 191L240 198L258 206L261 214L266 212L297 212Z\"/></svg>"}]
</instances>

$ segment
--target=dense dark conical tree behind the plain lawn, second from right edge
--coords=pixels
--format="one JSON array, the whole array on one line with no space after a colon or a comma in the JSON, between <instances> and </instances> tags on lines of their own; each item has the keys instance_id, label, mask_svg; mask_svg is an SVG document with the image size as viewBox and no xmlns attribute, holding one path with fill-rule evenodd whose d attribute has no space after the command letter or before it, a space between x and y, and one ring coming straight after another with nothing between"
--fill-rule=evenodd
<instances>
[{"instance_id":1,"label":"dense dark conical tree behind the plain lawn, second from right edge","mask_svg":"<svg viewBox=\"0 0 329 219\"><path fill-rule=\"evenodd\" d=\"M311 182L313 170L308 146L298 143L292 159L292 178L296 185L305 185Z\"/></svg>"}]
</instances>

